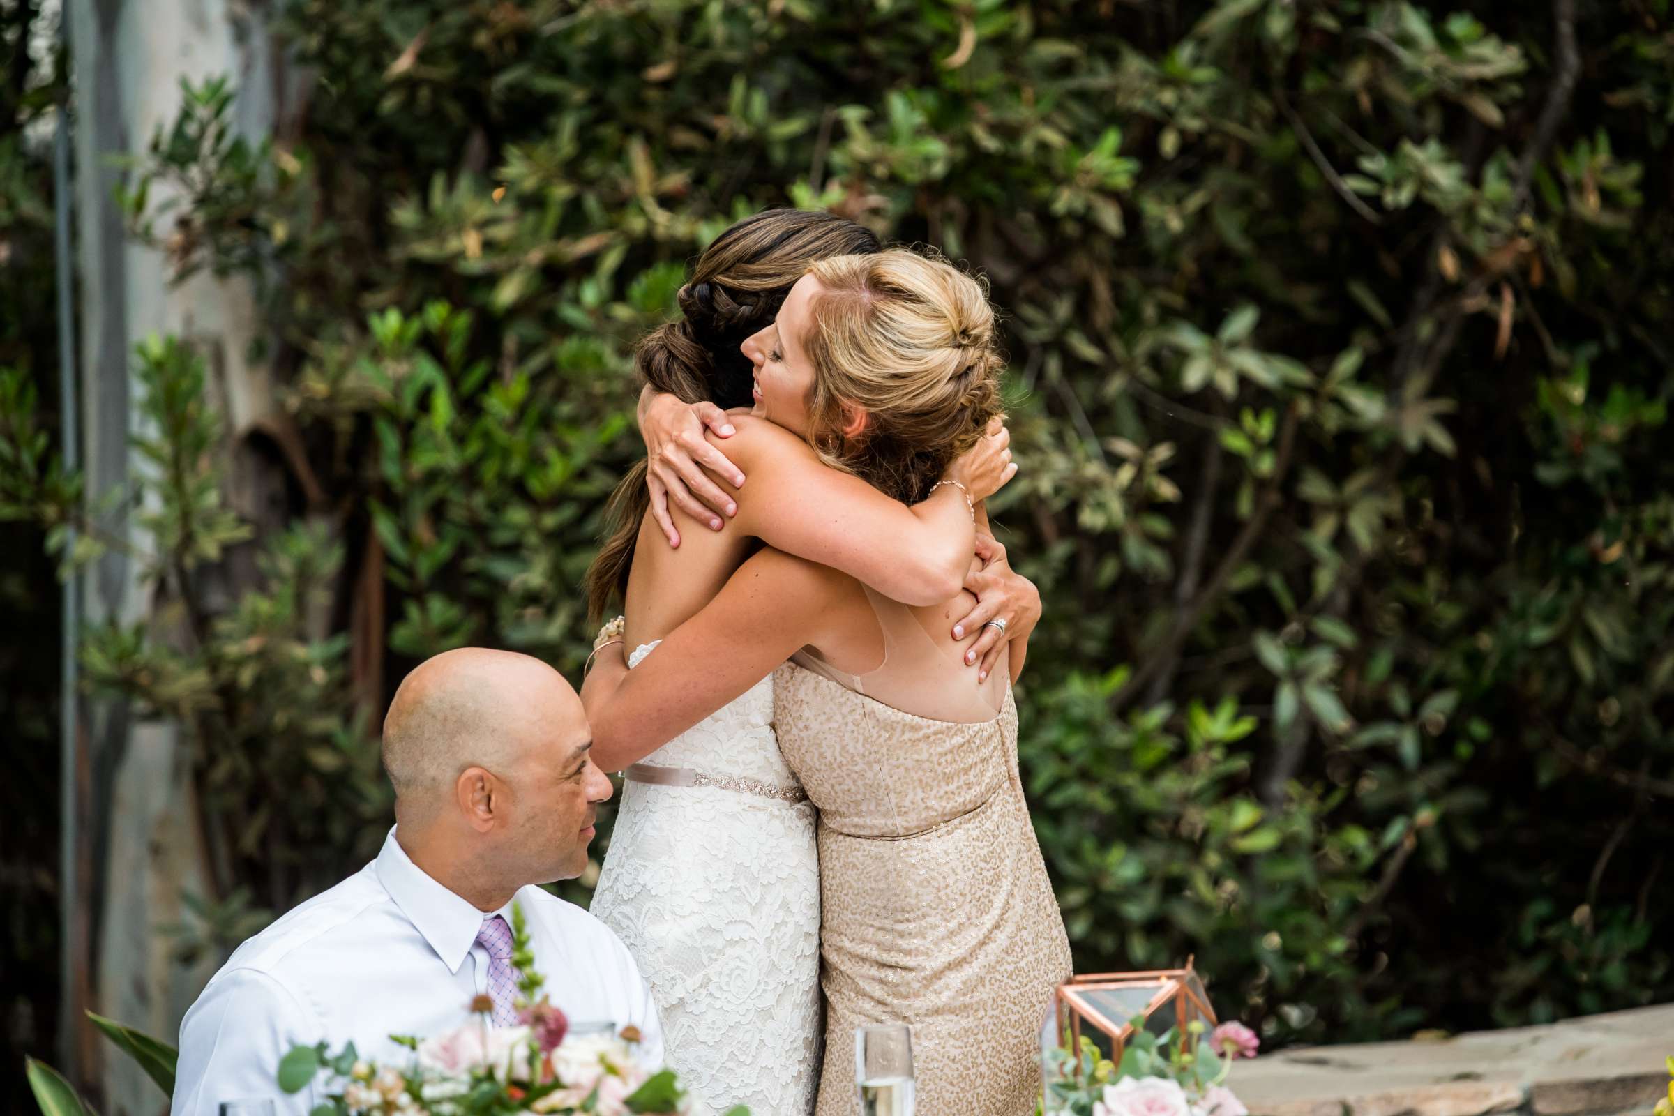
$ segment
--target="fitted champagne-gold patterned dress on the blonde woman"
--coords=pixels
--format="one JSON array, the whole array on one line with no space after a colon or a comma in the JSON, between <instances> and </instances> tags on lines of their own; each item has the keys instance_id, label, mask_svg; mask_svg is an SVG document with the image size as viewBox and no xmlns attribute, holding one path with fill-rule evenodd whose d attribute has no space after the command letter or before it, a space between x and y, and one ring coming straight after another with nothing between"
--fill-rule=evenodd
<instances>
[{"instance_id":1,"label":"fitted champagne-gold patterned dress on the blonde woman","mask_svg":"<svg viewBox=\"0 0 1674 1116\"><path fill-rule=\"evenodd\" d=\"M780 750L820 810L815 1111L859 1111L857 1026L906 1022L921 1116L1024 1116L1070 942L1023 798L1006 668L979 691L909 609L867 596L882 668L849 678L802 654L773 674ZM969 703L978 693L986 708Z\"/></svg>"}]
</instances>

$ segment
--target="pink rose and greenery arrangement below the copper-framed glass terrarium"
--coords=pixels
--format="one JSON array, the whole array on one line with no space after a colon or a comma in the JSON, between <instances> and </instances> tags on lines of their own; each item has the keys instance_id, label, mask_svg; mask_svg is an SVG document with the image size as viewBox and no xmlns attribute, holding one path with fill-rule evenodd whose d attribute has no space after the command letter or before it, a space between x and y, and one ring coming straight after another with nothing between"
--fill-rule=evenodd
<instances>
[{"instance_id":1,"label":"pink rose and greenery arrangement below the copper-framed glass terrarium","mask_svg":"<svg viewBox=\"0 0 1674 1116\"><path fill-rule=\"evenodd\" d=\"M1091 1039L1081 1049L1058 1047L1045 1057L1045 1116L1249 1116L1227 1088L1232 1062L1256 1057L1261 1041L1240 1022L1224 1022L1209 1036L1202 1022L1182 1041L1152 1034L1135 1021L1122 1062L1103 1057Z\"/></svg>"}]
</instances>

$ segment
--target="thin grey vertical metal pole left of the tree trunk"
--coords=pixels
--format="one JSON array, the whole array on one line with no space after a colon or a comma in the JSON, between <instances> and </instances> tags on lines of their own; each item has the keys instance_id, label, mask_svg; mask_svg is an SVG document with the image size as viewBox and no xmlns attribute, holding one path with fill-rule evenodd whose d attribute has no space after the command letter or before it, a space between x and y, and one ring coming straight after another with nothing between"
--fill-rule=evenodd
<instances>
[{"instance_id":1,"label":"thin grey vertical metal pole left of the tree trunk","mask_svg":"<svg viewBox=\"0 0 1674 1116\"><path fill-rule=\"evenodd\" d=\"M59 5L59 42L70 47L70 5L69 0ZM72 70L74 72L74 70ZM77 445L77 418L80 400L75 390L75 308L72 289L75 276L70 258L70 90L65 89L59 102L59 129L52 151L52 201L54 201L54 253L59 279L59 442L64 457L64 470L74 472L80 467ZM75 545L75 530L65 537L65 554ZM59 827L62 832L62 848L59 860L59 1067L70 1079L77 1079L77 1034L80 1027L74 1017L75 1007L75 955L77 955L77 892L75 878L75 811L80 800L77 793L77 673L75 644L80 622L79 576L64 579L64 616L62 616L62 654L59 663Z\"/></svg>"}]
</instances>

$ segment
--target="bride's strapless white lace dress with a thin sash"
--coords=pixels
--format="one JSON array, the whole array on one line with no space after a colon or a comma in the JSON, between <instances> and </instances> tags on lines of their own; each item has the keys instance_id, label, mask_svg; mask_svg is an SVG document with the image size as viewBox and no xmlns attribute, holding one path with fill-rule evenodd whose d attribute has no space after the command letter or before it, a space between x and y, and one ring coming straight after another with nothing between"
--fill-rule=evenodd
<instances>
[{"instance_id":1,"label":"bride's strapless white lace dress with a thin sash","mask_svg":"<svg viewBox=\"0 0 1674 1116\"><path fill-rule=\"evenodd\" d=\"M646 765L643 775L696 785L629 770L593 914L651 985L693 1116L735 1104L807 1116L822 1022L815 811L778 755L772 679L636 768Z\"/></svg>"}]
</instances>

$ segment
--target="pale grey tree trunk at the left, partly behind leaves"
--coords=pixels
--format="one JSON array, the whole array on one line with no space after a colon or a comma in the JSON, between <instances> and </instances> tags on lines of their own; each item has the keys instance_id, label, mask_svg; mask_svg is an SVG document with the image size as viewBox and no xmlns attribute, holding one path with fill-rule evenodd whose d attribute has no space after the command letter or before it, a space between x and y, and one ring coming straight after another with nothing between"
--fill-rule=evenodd
<instances>
[{"instance_id":1,"label":"pale grey tree trunk at the left, partly behind leaves","mask_svg":"<svg viewBox=\"0 0 1674 1116\"><path fill-rule=\"evenodd\" d=\"M204 353L214 403L228 418L229 452L243 455L244 430L268 415L268 368L249 360L258 336L251 284L203 273L172 286L156 253L127 241L114 191L124 171L112 156L144 152L157 127L174 120L181 79L226 74L239 87L238 125L266 134L280 102L281 72L259 7L241 0L67 0L75 67L75 199L82 351L82 428L92 494L126 485L141 462L129 452L137 387L134 345L174 333ZM156 197L161 201L161 197ZM263 524L273 514L271 468L241 458L226 475L231 504ZM151 540L119 507L107 529L149 552ZM112 554L87 572L84 622L157 627L157 596L142 569ZM229 592L234 584L226 586ZM204 835L193 795L191 753L179 728L144 719L119 703L89 703L89 786L82 788L80 842L87 850L79 897L87 930L79 945L79 984L90 1004L67 994L67 1011L95 1011L169 1039L219 962L181 964L159 930L187 922L182 895L211 890ZM162 1113L166 1103L126 1057L105 1056L84 1029L80 1084L107 1116ZM102 1069L100 1069L102 1067Z\"/></svg>"}]
</instances>

